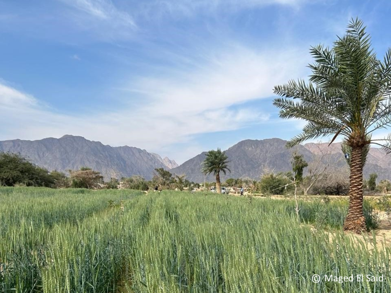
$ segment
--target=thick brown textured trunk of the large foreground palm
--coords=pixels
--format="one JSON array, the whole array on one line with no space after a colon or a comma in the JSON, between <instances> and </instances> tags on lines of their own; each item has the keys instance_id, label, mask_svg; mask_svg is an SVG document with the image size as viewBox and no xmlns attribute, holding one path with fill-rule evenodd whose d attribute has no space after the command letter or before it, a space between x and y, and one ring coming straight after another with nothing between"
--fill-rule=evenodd
<instances>
[{"instance_id":1,"label":"thick brown textured trunk of the large foreground palm","mask_svg":"<svg viewBox=\"0 0 391 293\"><path fill-rule=\"evenodd\" d=\"M356 233L367 230L363 210L363 146L351 149L349 211L344 230Z\"/></svg>"}]
</instances>

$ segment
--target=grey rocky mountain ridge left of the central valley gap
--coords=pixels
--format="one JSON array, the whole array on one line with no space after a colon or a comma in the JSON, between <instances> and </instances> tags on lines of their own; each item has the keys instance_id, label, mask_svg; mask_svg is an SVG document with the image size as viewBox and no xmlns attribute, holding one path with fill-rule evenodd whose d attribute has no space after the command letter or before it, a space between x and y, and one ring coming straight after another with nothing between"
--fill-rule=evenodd
<instances>
[{"instance_id":1,"label":"grey rocky mountain ridge left of the central valley gap","mask_svg":"<svg viewBox=\"0 0 391 293\"><path fill-rule=\"evenodd\" d=\"M59 139L45 138L36 141L0 141L0 151L20 153L34 164L48 170L76 170L91 167L100 171L105 179L141 175L147 180L155 168L171 169L178 165L169 158L132 146L105 146L81 136L65 135Z\"/></svg>"}]
</instances>

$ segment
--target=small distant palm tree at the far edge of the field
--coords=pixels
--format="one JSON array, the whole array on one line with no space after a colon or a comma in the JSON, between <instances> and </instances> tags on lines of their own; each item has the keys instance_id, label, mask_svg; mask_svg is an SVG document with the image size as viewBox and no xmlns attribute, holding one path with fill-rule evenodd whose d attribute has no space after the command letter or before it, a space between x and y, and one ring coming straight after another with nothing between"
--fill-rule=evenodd
<instances>
[{"instance_id":1,"label":"small distant palm tree at the far edge of the field","mask_svg":"<svg viewBox=\"0 0 391 293\"><path fill-rule=\"evenodd\" d=\"M216 175L216 189L217 193L221 193L221 182L220 182L220 171L226 174L229 169L227 161L228 157L224 151L221 151L219 148L217 150L210 150L206 153L206 158L202 163L202 172L205 175L213 173Z\"/></svg>"}]
</instances>

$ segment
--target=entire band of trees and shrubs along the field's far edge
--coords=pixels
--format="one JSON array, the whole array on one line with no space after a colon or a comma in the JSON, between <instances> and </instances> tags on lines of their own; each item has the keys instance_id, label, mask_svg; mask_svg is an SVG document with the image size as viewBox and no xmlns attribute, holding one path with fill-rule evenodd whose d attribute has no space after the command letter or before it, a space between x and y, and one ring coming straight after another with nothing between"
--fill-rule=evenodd
<instances>
[{"instance_id":1,"label":"entire band of trees and shrubs along the field's far edge","mask_svg":"<svg viewBox=\"0 0 391 293\"><path fill-rule=\"evenodd\" d=\"M308 166L303 156L292 155L293 162L296 160L297 166L303 169ZM226 161L224 158L223 161ZM305 167L304 167L305 166ZM293 165L292 165L293 167ZM294 170L295 168L293 168ZM326 194L326 195L346 195L349 190L349 178L347 172L327 171L322 169L319 174L315 171L307 172L303 176L303 170L299 170L298 194ZM173 175L163 168L156 168L153 172L152 180L145 180L140 175L122 177L120 180L111 178L105 182L100 172L89 167L81 167L79 170L68 170L69 176L63 172L51 171L38 167L28 161L20 154L0 152L0 186L35 186L50 188L129 188L137 190L192 190L200 188L199 183L189 181L184 175ZM228 188L245 188L247 192L271 194L292 194L294 172L272 172L266 171L259 180L245 178L229 178L221 185ZM316 177L316 180L314 178ZM364 180L364 191L367 193L391 192L390 180L381 180L376 184L377 174L369 175L368 180ZM206 182L205 188L213 188L216 183ZM309 187L309 188L308 188Z\"/></svg>"}]
</instances>

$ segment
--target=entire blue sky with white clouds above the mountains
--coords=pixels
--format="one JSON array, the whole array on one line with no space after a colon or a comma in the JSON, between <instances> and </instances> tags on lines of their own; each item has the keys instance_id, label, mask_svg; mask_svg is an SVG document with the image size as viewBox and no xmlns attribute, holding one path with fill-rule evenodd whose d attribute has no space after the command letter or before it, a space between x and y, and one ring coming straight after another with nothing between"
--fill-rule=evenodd
<instances>
[{"instance_id":1,"label":"entire blue sky with white clouds above the mountains","mask_svg":"<svg viewBox=\"0 0 391 293\"><path fill-rule=\"evenodd\" d=\"M309 47L363 19L379 58L391 2L0 1L0 140L81 135L178 163L298 134L273 86L306 78Z\"/></svg>"}]
</instances>

